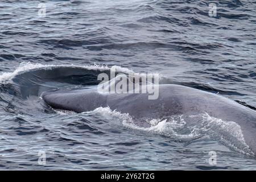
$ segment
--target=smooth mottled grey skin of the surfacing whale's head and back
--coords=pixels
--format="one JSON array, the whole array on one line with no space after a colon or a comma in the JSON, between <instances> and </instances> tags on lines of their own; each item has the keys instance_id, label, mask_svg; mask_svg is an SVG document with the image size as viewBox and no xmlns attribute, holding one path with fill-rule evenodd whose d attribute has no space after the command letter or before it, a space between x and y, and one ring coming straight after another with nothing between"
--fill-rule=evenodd
<instances>
[{"instance_id":1,"label":"smooth mottled grey skin of the surfacing whale's head and back","mask_svg":"<svg viewBox=\"0 0 256 182\"><path fill-rule=\"evenodd\" d=\"M148 100L146 93L107 93L97 89L77 89L46 92L43 100L55 109L77 113L109 106L112 110L129 113L133 118L163 118L178 114L208 113L224 121L240 125L243 138L256 154L256 111L229 98L181 85L159 85L159 97Z\"/></svg>"}]
</instances>

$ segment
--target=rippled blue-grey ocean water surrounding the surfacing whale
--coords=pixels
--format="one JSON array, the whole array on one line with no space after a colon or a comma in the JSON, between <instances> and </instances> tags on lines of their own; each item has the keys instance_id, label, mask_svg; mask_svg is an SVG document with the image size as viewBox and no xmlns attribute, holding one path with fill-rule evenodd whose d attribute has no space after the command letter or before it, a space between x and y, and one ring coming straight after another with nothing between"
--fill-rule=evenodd
<instances>
[{"instance_id":1,"label":"rippled blue-grey ocean water surrounding the surfacing whale","mask_svg":"<svg viewBox=\"0 0 256 182\"><path fill-rule=\"evenodd\" d=\"M77 114L40 98L97 85L114 66L256 107L255 13L239 0L0 1L0 169L256 169L232 121L170 115L142 127L109 107Z\"/></svg>"}]
</instances>

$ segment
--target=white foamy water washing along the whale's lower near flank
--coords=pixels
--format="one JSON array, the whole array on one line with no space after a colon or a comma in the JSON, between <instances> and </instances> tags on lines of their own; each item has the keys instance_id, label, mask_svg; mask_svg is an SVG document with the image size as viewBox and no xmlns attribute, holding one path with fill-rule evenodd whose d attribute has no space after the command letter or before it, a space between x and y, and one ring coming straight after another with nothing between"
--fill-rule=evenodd
<instances>
[{"instance_id":1,"label":"white foamy water washing along the whale's lower near flank","mask_svg":"<svg viewBox=\"0 0 256 182\"><path fill-rule=\"evenodd\" d=\"M148 127L139 125L139 122L131 118L129 114L111 110L109 107L98 107L89 113L99 114L102 119L107 121L118 121L122 126L129 129L159 134L174 140L193 140L208 135L213 140L219 141L233 150L254 155L243 138L240 125L232 121L222 121L222 119L211 117L207 113L139 121L146 122Z\"/></svg>"}]
</instances>

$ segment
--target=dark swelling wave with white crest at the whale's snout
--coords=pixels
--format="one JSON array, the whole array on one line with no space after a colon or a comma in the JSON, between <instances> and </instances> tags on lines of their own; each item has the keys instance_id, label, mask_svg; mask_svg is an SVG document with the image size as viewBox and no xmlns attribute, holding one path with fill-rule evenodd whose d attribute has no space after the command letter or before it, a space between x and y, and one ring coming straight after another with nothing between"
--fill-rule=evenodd
<instances>
[{"instance_id":1,"label":"dark swelling wave with white crest at the whale's snout","mask_svg":"<svg viewBox=\"0 0 256 182\"><path fill-rule=\"evenodd\" d=\"M113 66L117 73L130 69ZM13 72L0 75L0 105L8 113L55 113L42 100L43 92L63 88L80 88L100 83L100 73L110 74L107 65L44 65L22 63Z\"/></svg>"}]
</instances>

